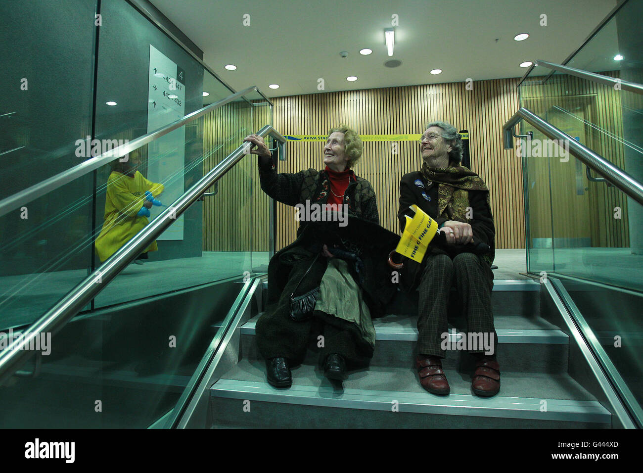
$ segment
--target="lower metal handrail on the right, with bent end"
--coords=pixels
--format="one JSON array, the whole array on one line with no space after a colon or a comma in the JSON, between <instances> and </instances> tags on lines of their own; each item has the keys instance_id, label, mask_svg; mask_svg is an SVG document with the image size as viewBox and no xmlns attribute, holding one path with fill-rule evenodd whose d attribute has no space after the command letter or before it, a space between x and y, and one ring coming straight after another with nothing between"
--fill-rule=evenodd
<instances>
[{"instance_id":1,"label":"lower metal handrail on the right, with bent end","mask_svg":"<svg viewBox=\"0 0 643 473\"><path fill-rule=\"evenodd\" d=\"M534 128L551 139L568 140L569 147L574 152L576 158L598 172L606 181L613 184L614 187L622 190L629 197L643 205L643 185L640 182L525 107L520 107L514 116L509 118L509 121L502 127L505 149L513 148L513 129L520 120L526 120Z\"/></svg>"}]
</instances>

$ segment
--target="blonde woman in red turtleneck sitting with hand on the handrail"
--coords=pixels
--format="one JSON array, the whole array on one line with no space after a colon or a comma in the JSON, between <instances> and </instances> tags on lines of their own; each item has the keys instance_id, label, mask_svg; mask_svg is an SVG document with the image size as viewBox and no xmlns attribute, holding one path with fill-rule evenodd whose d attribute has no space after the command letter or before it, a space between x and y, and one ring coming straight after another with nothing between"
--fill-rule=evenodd
<instances>
[{"instance_id":1,"label":"blonde woman in red turtleneck sitting with hand on the handrail","mask_svg":"<svg viewBox=\"0 0 643 473\"><path fill-rule=\"evenodd\" d=\"M363 149L353 129L340 125L329 131L321 171L278 174L264 140L251 134L245 141L254 145L251 153L258 155L261 188L272 198L320 213L329 205L347 211L351 230L358 233L360 228L379 227L375 193L352 170ZM375 344L370 308L377 305L374 299L381 288L375 279L363 277L370 255L358 241L332 246L320 227L299 213L296 241L269 263L267 310L257 321L258 348L266 358L267 380L275 387L291 386L290 368L302 362L311 340L320 348L324 375L332 380L347 377L347 363L372 357ZM307 308L293 309L303 296Z\"/></svg>"}]
</instances>

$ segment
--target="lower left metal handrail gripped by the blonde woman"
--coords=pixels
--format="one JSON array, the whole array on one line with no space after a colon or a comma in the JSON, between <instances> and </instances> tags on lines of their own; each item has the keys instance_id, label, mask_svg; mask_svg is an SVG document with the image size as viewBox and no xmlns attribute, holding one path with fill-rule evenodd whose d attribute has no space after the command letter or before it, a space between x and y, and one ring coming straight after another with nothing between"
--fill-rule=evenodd
<instances>
[{"instance_id":1,"label":"lower left metal handrail gripped by the blonde woman","mask_svg":"<svg viewBox=\"0 0 643 473\"><path fill-rule=\"evenodd\" d=\"M271 125L260 129L259 136L271 135L273 138L286 143L286 139L278 133ZM42 317L25 331L18 339L14 340L8 347L0 352L0 385L6 378L12 376L23 360L32 353L25 348L30 343L35 343L35 338L41 333L52 335L73 318L86 304L100 293L116 275L131 263L140 252L145 250L152 241L156 240L176 219L195 203L215 182L243 158L248 150L248 143L240 145L227 158L217 164L208 174L203 176L195 185L190 187L185 194L176 199L159 216L152 220L130 241L125 243L116 253L111 255L96 270L77 284L75 288L65 295L60 301L48 310ZM26 334L26 335L25 335Z\"/></svg>"}]
</instances>

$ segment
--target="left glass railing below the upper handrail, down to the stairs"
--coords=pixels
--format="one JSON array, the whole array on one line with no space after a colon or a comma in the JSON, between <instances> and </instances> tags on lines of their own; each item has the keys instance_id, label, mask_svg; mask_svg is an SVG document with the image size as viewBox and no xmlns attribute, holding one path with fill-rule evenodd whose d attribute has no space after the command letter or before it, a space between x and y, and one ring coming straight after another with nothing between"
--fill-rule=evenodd
<instances>
[{"instance_id":1,"label":"left glass railing below the upper handrail, down to the stairs","mask_svg":"<svg viewBox=\"0 0 643 473\"><path fill-rule=\"evenodd\" d=\"M27 261L34 269L26 274L16 265L3 266L18 273L3 277L3 342L28 329L84 280L91 264L100 265L154 222L246 134L255 133L255 122L270 120L270 107L257 91L217 107L133 151L127 162L114 159L96 172L102 178L93 192L77 200L71 196L62 208L52 205L49 216L25 225L7 242L7 260L12 248L38 241L55 225L71 227L79 209L87 218L95 205L102 210L96 215L104 216L95 232L77 232L74 239L71 232L62 233L68 245L55 258L32 255L35 261ZM267 270L272 203L260 192L253 158L242 158L211 195L177 216L144 252L147 258L134 260L98 293L94 310L81 312L58 333L44 334L37 347L42 349L0 387L2 427L148 427L174 408L240 283ZM73 181L53 192L64 196L66 189L77 188ZM147 189L162 204L152 203L149 218L137 215L145 209L138 194Z\"/></svg>"}]
</instances>

